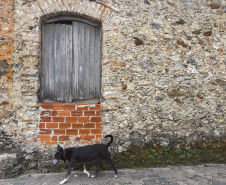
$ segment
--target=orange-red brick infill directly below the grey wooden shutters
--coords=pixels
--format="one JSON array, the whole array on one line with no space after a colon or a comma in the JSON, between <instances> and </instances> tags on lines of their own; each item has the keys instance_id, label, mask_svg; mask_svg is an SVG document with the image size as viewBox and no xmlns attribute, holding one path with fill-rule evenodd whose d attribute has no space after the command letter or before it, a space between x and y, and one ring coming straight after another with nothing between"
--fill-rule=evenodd
<instances>
[{"instance_id":1,"label":"orange-red brick infill directly below the grey wooden shutters","mask_svg":"<svg viewBox=\"0 0 226 185\"><path fill-rule=\"evenodd\" d=\"M100 104L41 104L39 141L46 145L92 144L102 137Z\"/></svg>"}]
</instances>

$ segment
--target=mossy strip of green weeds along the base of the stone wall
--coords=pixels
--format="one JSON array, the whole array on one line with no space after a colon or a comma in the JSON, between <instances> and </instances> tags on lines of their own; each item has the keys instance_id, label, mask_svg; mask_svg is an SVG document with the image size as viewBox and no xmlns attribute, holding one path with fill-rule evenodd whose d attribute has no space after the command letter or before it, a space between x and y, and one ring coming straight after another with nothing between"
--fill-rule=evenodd
<instances>
[{"instance_id":1,"label":"mossy strip of green weeds along the base of the stone wall","mask_svg":"<svg viewBox=\"0 0 226 185\"><path fill-rule=\"evenodd\" d=\"M226 142L196 144L193 146L129 146L127 151L116 153L112 148L112 156L115 166L118 169L136 168L145 169L151 167L180 166L180 165L199 165L207 163L226 163ZM59 166L60 165L60 166ZM94 171L96 161L86 163L88 171ZM67 163L52 166L53 172L62 172L67 169ZM75 170L82 170L81 165L77 165ZM103 162L101 170L112 170Z\"/></svg>"}]
</instances>

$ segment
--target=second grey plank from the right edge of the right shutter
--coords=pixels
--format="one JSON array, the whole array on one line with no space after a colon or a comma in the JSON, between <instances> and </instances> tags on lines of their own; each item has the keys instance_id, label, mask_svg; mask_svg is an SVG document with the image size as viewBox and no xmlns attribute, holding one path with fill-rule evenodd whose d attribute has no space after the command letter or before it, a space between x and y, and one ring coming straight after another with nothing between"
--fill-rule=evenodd
<instances>
[{"instance_id":1,"label":"second grey plank from the right edge of the right shutter","mask_svg":"<svg viewBox=\"0 0 226 185\"><path fill-rule=\"evenodd\" d=\"M95 74L95 27L90 26L89 28L89 39L90 39L90 51L89 51L89 99L94 98L94 74Z\"/></svg>"}]
</instances>

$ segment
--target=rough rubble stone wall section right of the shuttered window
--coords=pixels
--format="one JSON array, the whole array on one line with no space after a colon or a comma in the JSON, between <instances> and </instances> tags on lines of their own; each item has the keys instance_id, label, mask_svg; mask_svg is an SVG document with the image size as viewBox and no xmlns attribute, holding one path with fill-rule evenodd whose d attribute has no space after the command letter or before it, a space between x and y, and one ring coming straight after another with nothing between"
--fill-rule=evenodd
<instances>
[{"instance_id":1,"label":"rough rubble stone wall section right of the shuttered window","mask_svg":"<svg viewBox=\"0 0 226 185\"><path fill-rule=\"evenodd\" d=\"M103 132L126 145L225 138L225 1L111 3Z\"/></svg>"}]
</instances>

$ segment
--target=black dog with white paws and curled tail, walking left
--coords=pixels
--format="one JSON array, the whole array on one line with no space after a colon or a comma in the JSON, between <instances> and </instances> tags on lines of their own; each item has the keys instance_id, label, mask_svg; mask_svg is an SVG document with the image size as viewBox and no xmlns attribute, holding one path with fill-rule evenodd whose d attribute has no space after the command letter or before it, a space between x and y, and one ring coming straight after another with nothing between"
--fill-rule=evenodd
<instances>
[{"instance_id":1,"label":"black dog with white paws and curled tail, walking left","mask_svg":"<svg viewBox=\"0 0 226 185\"><path fill-rule=\"evenodd\" d=\"M66 148L65 150L58 145L58 151L55 154L53 164L57 164L60 160L68 160L69 166L68 166L68 172L63 181L60 182L60 184L64 184L67 182L69 175L71 174L71 171L73 170L73 167L76 164L82 163L83 165L83 172L90 176L89 172L85 168L85 162L97 160L97 167L94 175L91 177L96 177L97 173L100 170L100 164L102 160L105 160L109 166L113 168L115 171L115 177L117 177L117 169L114 166L111 154L108 151L109 146L113 142L113 136L107 135L104 138L110 137L111 141L105 145L105 144L95 144L95 145L88 145L84 147L73 147L73 148Z\"/></svg>"}]
</instances>

